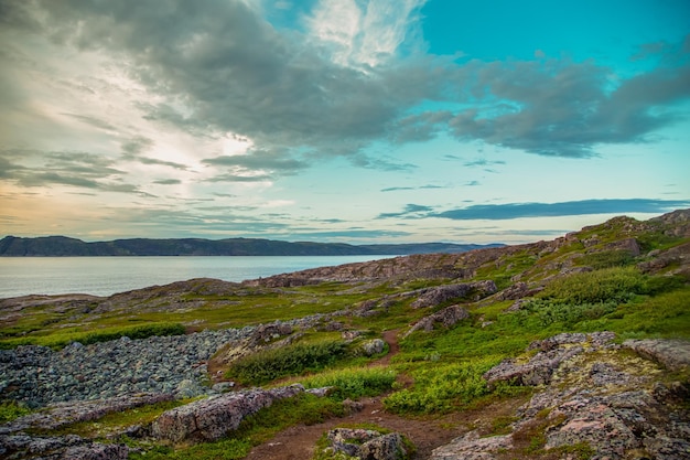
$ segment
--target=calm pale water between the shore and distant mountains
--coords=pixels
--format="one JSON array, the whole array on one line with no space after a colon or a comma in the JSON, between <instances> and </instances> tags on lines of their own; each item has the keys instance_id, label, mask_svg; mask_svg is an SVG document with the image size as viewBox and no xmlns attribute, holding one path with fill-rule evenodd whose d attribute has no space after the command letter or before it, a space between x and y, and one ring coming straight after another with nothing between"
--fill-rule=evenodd
<instances>
[{"instance_id":1,"label":"calm pale water between the shore and distant mountains","mask_svg":"<svg viewBox=\"0 0 690 460\"><path fill-rule=\"evenodd\" d=\"M392 256L0 257L0 298L30 293L110 296L191 278L242 281Z\"/></svg>"}]
</instances>

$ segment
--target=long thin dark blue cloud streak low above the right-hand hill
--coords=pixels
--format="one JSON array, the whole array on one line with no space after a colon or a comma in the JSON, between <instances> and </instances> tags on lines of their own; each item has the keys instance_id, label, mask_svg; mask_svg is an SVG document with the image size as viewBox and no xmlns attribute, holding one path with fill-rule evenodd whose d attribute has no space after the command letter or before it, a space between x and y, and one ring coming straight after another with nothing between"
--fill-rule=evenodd
<instances>
[{"instance_id":1,"label":"long thin dark blue cloud streak low above the right-hand hill","mask_svg":"<svg viewBox=\"0 0 690 460\"><path fill-rule=\"evenodd\" d=\"M562 203L475 204L461 210L428 213L425 216L450 218L454 221L504 221L521 217L559 217L587 214L658 214L688 206L690 206L690 201L688 200L582 200Z\"/></svg>"}]
</instances>

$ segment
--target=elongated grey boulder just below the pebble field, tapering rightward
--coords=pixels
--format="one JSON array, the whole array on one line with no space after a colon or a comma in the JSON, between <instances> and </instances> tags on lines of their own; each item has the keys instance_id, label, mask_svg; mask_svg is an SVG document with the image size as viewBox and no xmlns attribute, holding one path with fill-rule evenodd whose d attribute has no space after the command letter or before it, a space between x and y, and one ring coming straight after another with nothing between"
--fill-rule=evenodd
<instances>
[{"instance_id":1,"label":"elongated grey boulder just below the pebble field, tapering rightward","mask_svg":"<svg viewBox=\"0 0 690 460\"><path fill-rule=\"evenodd\" d=\"M269 407L277 399L293 397L302 392L304 387L298 384L212 396L163 413L153 421L151 434L154 438L173 442L214 441L237 429L245 417Z\"/></svg>"}]
</instances>

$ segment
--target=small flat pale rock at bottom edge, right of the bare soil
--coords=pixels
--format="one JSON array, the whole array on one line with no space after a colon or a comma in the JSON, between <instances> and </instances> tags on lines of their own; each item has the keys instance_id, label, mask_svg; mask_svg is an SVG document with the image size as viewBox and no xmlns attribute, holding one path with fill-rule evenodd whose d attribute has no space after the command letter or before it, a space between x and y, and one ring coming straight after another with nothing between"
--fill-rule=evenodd
<instances>
[{"instance_id":1,"label":"small flat pale rock at bottom edge, right of the bare soil","mask_svg":"<svg viewBox=\"0 0 690 460\"><path fill-rule=\"evenodd\" d=\"M513 438L509 435L479 438L479 432L474 430L435 448L429 460L494 460L498 458L494 453L511 448Z\"/></svg>"}]
</instances>

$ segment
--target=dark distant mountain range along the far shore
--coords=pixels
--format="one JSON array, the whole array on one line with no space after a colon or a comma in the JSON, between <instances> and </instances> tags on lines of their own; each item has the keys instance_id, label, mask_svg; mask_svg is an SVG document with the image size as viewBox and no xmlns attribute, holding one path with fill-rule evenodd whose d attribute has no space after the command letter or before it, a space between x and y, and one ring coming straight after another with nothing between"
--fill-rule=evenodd
<instances>
[{"instance_id":1,"label":"dark distant mountain range along the far shore","mask_svg":"<svg viewBox=\"0 0 690 460\"><path fill-rule=\"evenodd\" d=\"M502 244L452 243L348 245L344 243L279 242L258 238L131 238L86 243L66 236L0 239L0 257L89 256L368 256L464 253Z\"/></svg>"}]
</instances>

